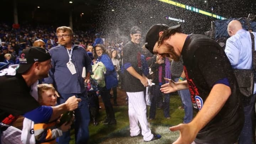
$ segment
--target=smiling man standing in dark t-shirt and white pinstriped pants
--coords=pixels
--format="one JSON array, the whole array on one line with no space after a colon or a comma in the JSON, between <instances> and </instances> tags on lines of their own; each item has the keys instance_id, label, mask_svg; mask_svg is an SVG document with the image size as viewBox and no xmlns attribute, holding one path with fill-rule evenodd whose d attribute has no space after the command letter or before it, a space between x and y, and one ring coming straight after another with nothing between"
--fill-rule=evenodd
<instances>
[{"instance_id":1,"label":"smiling man standing in dark t-shirt and white pinstriped pants","mask_svg":"<svg viewBox=\"0 0 256 144\"><path fill-rule=\"evenodd\" d=\"M140 134L140 126L144 141L151 141L161 138L158 134L152 134L148 127L146 118L146 102L144 89L148 86L148 78L143 74L143 64L141 48L139 47L141 33L139 27L134 26L130 31L131 41L123 48L124 66L124 90L129 97L129 122L130 136L135 137ZM148 69L148 68L147 68Z\"/></svg>"}]
</instances>

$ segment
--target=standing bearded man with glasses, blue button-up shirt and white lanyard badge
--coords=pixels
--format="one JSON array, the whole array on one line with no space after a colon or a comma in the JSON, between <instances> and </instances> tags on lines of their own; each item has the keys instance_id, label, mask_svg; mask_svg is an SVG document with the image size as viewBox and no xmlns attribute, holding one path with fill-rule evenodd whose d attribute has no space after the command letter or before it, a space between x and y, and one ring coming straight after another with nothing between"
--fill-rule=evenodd
<instances>
[{"instance_id":1,"label":"standing bearded man with glasses, blue button-up shirt and white lanyard badge","mask_svg":"<svg viewBox=\"0 0 256 144\"><path fill-rule=\"evenodd\" d=\"M75 110L75 140L76 144L86 144L89 139L90 113L84 83L90 80L91 59L84 48L72 42L73 31L70 27L58 27L56 34L59 45L49 50L52 68L45 81L53 84L59 92L58 104L64 103L73 95L81 98L82 101ZM83 67L87 72L85 79L82 77ZM59 143L68 144L69 140L70 132L64 132Z\"/></svg>"}]
</instances>

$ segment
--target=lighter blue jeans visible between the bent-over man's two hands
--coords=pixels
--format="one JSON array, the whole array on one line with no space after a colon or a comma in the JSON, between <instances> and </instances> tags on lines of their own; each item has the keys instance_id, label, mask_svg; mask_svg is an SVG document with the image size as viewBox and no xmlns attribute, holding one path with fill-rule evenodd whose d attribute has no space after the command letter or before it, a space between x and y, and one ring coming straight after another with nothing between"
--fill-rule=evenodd
<instances>
[{"instance_id":1,"label":"lighter blue jeans visible between the bent-over man's two hands","mask_svg":"<svg viewBox=\"0 0 256 144\"><path fill-rule=\"evenodd\" d=\"M179 78L176 78L175 82L177 82L178 80ZM178 95L181 97L181 102L185 110L183 123L189 123L193 119L193 106L190 91L188 89L178 90Z\"/></svg>"}]
</instances>

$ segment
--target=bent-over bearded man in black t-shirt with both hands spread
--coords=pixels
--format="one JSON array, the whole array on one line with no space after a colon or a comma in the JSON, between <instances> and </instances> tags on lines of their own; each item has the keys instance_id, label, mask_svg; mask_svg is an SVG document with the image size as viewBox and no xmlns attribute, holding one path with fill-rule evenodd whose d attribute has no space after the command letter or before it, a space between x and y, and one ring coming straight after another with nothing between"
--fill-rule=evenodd
<instances>
[{"instance_id":1,"label":"bent-over bearded man in black t-shirt with both hands spread","mask_svg":"<svg viewBox=\"0 0 256 144\"><path fill-rule=\"evenodd\" d=\"M175 144L234 144L244 123L241 94L233 69L217 42L199 34L181 33L180 25L158 24L146 34L145 46L178 61L182 55L186 81L162 85L164 93L189 88L198 113L180 130Z\"/></svg>"}]
</instances>

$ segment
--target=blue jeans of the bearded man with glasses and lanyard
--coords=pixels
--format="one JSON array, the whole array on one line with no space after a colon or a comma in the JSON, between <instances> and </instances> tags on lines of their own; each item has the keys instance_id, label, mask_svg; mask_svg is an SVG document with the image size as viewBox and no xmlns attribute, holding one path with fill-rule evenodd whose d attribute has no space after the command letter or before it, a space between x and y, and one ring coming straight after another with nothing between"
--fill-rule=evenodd
<instances>
[{"instance_id":1,"label":"blue jeans of the bearded man with glasses and lanyard","mask_svg":"<svg viewBox=\"0 0 256 144\"><path fill-rule=\"evenodd\" d=\"M83 94L63 94L59 93L60 98L58 98L57 103L62 104L69 97L75 95L77 98L81 98L81 102L78 104L78 108L75 110L75 141L76 144L87 144L89 139L89 123L90 123L90 112L88 105L87 93ZM63 132L63 135L59 137L59 144L69 144L70 141L70 130Z\"/></svg>"}]
</instances>

